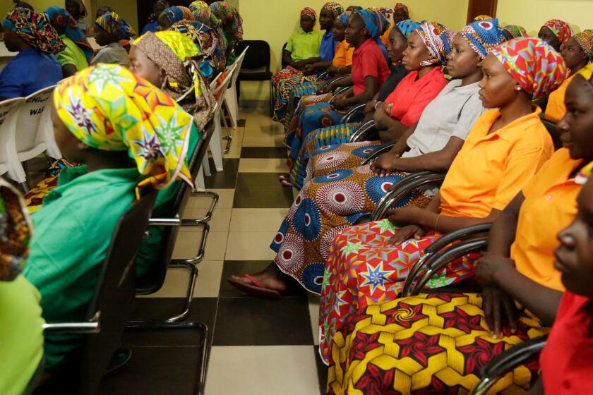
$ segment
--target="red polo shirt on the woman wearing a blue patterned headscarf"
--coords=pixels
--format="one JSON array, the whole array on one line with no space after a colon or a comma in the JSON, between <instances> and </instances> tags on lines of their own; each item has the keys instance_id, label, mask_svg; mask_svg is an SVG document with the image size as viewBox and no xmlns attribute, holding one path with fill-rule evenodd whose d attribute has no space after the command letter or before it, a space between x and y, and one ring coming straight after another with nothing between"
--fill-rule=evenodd
<instances>
[{"instance_id":1,"label":"red polo shirt on the woman wearing a blue patterned headscarf","mask_svg":"<svg viewBox=\"0 0 593 395\"><path fill-rule=\"evenodd\" d=\"M375 77L379 85L383 85L389 77L389 67L383 52L373 39L367 39L352 54L352 81L354 82L354 96L364 92L364 78Z\"/></svg>"}]
</instances>

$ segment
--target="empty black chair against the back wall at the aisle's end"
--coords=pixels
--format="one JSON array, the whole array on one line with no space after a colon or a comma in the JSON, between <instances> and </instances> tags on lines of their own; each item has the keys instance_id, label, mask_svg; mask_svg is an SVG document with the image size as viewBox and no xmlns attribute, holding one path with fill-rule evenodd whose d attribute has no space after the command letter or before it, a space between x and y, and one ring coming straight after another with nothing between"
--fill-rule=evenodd
<instances>
[{"instance_id":1,"label":"empty black chair against the back wall at the aisle's end","mask_svg":"<svg viewBox=\"0 0 593 395\"><path fill-rule=\"evenodd\" d=\"M239 70L239 78L236 83L237 97L241 97L241 81L268 81L270 84L270 114L272 114L274 85L272 85L273 74L270 71L270 62L272 59L270 44L259 39L244 40L237 44L235 48L240 51L246 47L249 50Z\"/></svg>"}]
</instances>

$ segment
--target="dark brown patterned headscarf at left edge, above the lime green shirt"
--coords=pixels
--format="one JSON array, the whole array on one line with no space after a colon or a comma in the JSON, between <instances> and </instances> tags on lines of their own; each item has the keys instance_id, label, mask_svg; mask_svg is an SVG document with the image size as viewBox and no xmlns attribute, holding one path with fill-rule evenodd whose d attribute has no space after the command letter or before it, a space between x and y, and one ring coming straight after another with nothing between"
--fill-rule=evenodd
<instances>
[{"instance_id":1,"label":"dark brown patterned headscarf at left edge, above the lime green shirt","mask_svg":"<svg viewBox=\"0 0 593 395\"><path fill-rule=\"evenodd\" d=\"M0 281L13 281L23 271L31 234L23 196L0 178Z\"/></svg>"}]
</instances>

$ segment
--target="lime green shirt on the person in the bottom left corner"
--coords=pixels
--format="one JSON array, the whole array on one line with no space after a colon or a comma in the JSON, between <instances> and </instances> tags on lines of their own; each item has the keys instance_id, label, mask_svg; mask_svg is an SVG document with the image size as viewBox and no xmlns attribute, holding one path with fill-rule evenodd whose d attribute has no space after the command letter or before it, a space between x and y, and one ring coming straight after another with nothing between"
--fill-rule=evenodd
<instances>
[{"instance_id":1,"label":"lime green shirt on the person in the bottom left corner","mask_svg":"<svg viewBox=\"0 0 593 395\"><path fill-rule=\"evenodd\" d=\"M0 281L0 394L21 395L43 357L40 294L23 276Z\"/></svg>"}]
</instances>

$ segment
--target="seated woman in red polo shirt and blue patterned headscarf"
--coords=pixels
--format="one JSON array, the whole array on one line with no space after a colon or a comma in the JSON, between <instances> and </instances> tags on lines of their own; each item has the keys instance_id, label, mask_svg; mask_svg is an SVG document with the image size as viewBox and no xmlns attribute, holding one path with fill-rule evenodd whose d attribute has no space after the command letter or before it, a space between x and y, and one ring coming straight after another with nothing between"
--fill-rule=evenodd
<instances>
[{"instance_id":1,"label":"seated woman in red polo shirt and blue patterned headscarf","mask_svg":"<svg viewBox=\"0 0 593 395\"><path fill-rule=\"evenodd\" d=\"M304 109L291 142L290 158L293 163L295 159L306 159L301 147L304 147L309 133L316 133L314 131L318 128L339 123L349 107L373 99L379 87L389 77L387 62L376 44L385 23L385 16L372 8L357 11L350 16L346 38L355 48L352 58L354 86L335 96L329 103L321 102Z\"/></svg>"}]
</instances>

